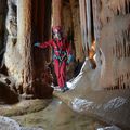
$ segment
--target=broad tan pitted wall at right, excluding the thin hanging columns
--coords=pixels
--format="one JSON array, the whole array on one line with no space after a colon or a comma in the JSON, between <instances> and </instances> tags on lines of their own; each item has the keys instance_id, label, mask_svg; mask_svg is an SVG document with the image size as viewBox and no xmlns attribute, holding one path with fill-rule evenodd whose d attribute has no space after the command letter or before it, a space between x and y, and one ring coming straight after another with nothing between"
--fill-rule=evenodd
<instances>
[{"instance_id":1,"label":"broad tan pitted wall at right, excluding the thin hanging columns","mask_svg":"<svg viewBox=\"0 0 130 130\"><path fill-rule=\"evenodd\" d=\"M94 27L102 51L101 87L129 88L130 1L93 0Z\"/></svg>"}]
</instances>

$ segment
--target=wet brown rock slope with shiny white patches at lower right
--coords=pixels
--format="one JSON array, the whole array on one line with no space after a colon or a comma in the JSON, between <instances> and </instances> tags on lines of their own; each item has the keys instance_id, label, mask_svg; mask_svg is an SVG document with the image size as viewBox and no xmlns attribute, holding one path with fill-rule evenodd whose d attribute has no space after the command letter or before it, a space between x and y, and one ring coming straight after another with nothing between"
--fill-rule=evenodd
<instances>
[{"instance_id":1,"label":"wet brown rock slope with shiny white patches at lower right","mask_svg":"<svg viewBox=\"0 0 130 130\"><path fill-rule=\"evenodd\" d=\"M93 91L88 88L86 94L80 94L78 93L79 89L81 89L81 87L65 93L55 91L54 95L62 99L75 112L91 115L109 125L117 125L122 130L130 129L129 90ZM79 92L81 90L79 90Z\"/></svg>"}]
</instances>

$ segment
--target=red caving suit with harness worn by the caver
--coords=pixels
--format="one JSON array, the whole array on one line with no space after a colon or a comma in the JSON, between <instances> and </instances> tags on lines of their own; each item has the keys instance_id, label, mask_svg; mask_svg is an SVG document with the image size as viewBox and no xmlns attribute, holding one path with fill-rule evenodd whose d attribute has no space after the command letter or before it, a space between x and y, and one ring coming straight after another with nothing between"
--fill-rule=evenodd
<instances>
[{"instance_id":1,"label":"red caving suit with harness worn by the caver","mask_svg":"<svg viewBox=\"0 0 130 130\"><path fill-rule=\"evenodd\" d=\"M70 54L69 43L66 38L63 38L61 41L57 39L49 40L47 42L40 43L39 48L48 48L52 47L54 54L54 70L57 78L57 83L60 88L64 88L66 86L66 65L67 65L67 56Z\"/></svg>"}]
</instances>

